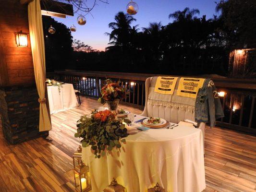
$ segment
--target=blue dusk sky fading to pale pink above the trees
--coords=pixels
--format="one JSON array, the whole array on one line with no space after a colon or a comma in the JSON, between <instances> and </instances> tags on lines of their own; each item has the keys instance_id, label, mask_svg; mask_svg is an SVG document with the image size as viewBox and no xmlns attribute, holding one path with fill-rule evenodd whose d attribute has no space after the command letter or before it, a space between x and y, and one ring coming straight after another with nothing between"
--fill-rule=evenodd
<instances>
[{"instance_id":1,"label":"blue dusk sky fading to pale pink above the trees","mask_svg":"<svg viewBox=\"0 0 256 192\"><path fill-rule=\"evenodd\" d=\"M88 6L94 0L87 0ZM197 8L200 15L207 15L207 18L213 17L215 12L216 0L134 0L139 6L139 12L134 15L137 19L132 25L139 24L139 28L147 27L150 22L161 22L166 25L171 22L168 15L177 10L183 10L185 7L190 9ZM72 24L76 26L76 32L72 32L73 39L84 41L85 44L92 46L98 50L105 50L108 46L109 37L105 32L110 32L108 24L114 22L114 16L117 12L126 11L126 5L129 0L109 0L109 4L98 1L98 5L92 10L92 15L87 14L85 25L76 23L76 18L68 16L66 19L54 17L55 20L61 22L68 27Z\"/></svg>"}]
</instances>

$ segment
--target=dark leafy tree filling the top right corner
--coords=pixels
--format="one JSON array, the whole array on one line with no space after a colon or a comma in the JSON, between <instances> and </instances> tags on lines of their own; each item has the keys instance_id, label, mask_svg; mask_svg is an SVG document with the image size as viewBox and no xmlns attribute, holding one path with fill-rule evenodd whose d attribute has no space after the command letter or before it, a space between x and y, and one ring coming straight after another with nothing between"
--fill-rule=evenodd
<instances>
[{"instance_id":1,"label":"dark leafy tree filling the top right corner","mask_svg":"<svg viewBox=\"0 0 256 192\"><path fill-rule=\"evenodd\" d=\"M220 0L216 10L230 48L256 48L255 0Z\"/></svg>"}]
</instances>

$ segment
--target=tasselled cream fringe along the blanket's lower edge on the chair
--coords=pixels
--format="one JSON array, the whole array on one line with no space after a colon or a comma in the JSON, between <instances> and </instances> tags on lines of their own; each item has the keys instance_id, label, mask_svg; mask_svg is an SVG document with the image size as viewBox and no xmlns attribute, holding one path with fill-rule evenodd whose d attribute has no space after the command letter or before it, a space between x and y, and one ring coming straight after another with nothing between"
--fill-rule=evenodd
<instances>
[{"instance_id":1,"label":"tasselled cream fringe along the blanket's lower edge on the chair","mask_svg":"<svg viewBox=\"0 0 256 192\"><path fill-rule=\"evenodd\" d=\"M182 104L182 103L174 103L170 101L160 101L160 100L154 100L154 99L148 99L147 102L151 105L164 106L168 108L176 108L184 111L189 111L191 113L194 113L195 111L195 106Z\"/></svg>"}]
</instances>

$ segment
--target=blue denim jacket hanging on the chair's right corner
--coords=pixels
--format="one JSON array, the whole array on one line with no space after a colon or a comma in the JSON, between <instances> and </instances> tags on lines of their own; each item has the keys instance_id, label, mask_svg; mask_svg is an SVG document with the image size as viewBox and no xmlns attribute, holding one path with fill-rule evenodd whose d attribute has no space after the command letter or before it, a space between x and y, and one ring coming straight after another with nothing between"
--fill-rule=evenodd
<instances>
[{"instance_id":1,"label":"blue denim jacket hanging on the chair's right corner","mask_svg":"<svg viewBox=\"0 0 256 192\"><path fill-rule=\"evenodd\" d=\"M208 122L214 127L216 119L224 117L217 89L212 80L206 79L195 100L195 121Z\"/></svg>"}]
</instances>

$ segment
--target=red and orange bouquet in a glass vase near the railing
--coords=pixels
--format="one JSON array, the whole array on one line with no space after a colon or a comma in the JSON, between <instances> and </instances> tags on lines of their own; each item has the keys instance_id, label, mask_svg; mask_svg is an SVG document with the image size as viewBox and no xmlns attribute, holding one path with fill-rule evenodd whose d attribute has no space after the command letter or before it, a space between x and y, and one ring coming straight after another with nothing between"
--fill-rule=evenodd
<instances>
[{"instance_id":1,"label":"red and orange bouquet in a glass vase near the railing","mask_svg":"<svg viewBox=\"0 0 256 192\"><path fill-rule=\"evenodd\" d=\"M101 104L107 103L109 109L116 115L119 101L124 98L125 92L119 85L119 82L114 83L110 79L107 79L105 86L101 88L101 97L98 101Z\"/></svg>"}]
</instances>

